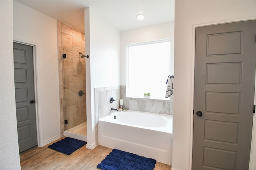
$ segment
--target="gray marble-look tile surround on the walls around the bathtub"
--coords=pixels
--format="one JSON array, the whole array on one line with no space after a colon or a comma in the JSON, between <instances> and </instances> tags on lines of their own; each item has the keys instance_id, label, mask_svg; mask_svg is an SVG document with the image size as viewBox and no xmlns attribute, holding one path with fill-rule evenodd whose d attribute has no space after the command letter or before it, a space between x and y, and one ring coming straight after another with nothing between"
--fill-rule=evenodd
<instances>
[{"instance_id":1,"label":"gray marble-look tile surround on the walls around the bathtub","mask_svg":"<svg viewBox=\"0 0 256 170\"><path fill-rule=\"evenodd\" d=\"M110 97L114 101L110 104ZM118 109L120 99L123 99L123 107L129 110L145 111L150 113L173 114L173 95L170 100L126 98L126 86L113 86L95 88L95 124L96 144L98 145L98 120L113 113L111 108Z\"/></svg>"}]
</instances>

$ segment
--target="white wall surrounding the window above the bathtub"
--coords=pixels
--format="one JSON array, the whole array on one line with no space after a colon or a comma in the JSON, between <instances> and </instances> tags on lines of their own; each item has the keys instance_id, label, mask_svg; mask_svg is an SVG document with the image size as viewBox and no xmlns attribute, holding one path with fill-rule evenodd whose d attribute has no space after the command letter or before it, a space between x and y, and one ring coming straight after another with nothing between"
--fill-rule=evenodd
<instances>
[{"instance_id":1,"label":"white wall surrounding the window above the bathtub","mask_svg":"<svg viewBox=\"0 0 256 170\"><path fill-rule=\"evenodd\" d=\"M174 74L174 22L121 32L121 85L126 85L126 44L171 39L171 74Z\"/></svg>"}]
</instances>

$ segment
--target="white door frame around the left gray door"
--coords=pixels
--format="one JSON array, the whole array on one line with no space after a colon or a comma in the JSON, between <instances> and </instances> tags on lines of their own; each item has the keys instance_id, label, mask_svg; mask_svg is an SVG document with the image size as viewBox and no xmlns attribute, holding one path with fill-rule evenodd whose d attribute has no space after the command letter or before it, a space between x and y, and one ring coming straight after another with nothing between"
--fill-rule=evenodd
<instances>
[{"instance_id":1,"label":"white door frame around the left gray door","mask_svg":"<svg viewBox=\"0 0 256 170\"><path fill-rule=\"evenodd\" d=\"M33 47L33 70L34 70L34 91L35 91L35 107L36 107L36 133L37 133L37 145L43 147L43 127L42 127L42 90L41 90L41 74L40 67L37 59L38 44L13 39L14 43L20 43L24 45L30 45ZM18 131L18 129L17 129Z\"/></svg>"}]
</instances>

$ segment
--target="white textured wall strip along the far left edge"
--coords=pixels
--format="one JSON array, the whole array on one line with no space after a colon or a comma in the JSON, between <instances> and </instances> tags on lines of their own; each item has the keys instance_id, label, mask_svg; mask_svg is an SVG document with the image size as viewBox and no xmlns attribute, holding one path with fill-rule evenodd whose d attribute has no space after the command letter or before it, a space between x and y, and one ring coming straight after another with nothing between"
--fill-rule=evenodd
<instances>
[{"instance_id":1,"label":"white textured wall strip along the far left edge","mask_svg":"<svg viewBox=\"0 0 256 170\"><path fill-rule=\"evenodd\" d=\"M0 1L0 169L20 169L14 93L12 1Z\"/></svg>"}]
</instances>

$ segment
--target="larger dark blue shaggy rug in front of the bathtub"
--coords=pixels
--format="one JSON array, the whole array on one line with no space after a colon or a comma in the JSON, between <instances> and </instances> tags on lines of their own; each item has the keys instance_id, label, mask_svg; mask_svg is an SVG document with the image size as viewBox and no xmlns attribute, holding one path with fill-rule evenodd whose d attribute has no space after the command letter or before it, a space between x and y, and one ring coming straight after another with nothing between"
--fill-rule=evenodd
<instances>
[{"instance_id":1,"label":"larger dark blue shaggy rug in front of the bathtub","mask_svg":"<svg viewBox=\"0 0 256 170\"><path fill-rule=\"evenodd\" d=\"M153 170L156 160L113 149L97 168L102 170Z\"/></svg>"}]
</instances>

